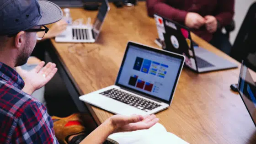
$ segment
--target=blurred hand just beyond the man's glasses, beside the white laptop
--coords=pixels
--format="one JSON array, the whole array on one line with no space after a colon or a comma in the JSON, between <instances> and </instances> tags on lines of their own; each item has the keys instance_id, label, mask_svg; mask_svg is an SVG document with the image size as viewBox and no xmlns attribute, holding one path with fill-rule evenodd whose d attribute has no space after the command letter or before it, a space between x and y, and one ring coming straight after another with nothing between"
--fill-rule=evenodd
<instances>
[{"instance_id":1,"label":"blurred hand just beyond the man's glasses, beside the white laptop","mask_svg":"<svg viewBox=\"0 0 256 144\"><path fill-rule=\"evenodd\" d=\"M49 28L49 31L45 34L45 38L56 37L66 30L68 23L64 20L57 21Z\"/></svg>"}]
</instances>

